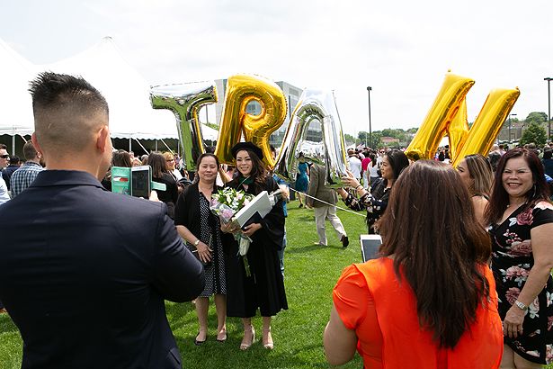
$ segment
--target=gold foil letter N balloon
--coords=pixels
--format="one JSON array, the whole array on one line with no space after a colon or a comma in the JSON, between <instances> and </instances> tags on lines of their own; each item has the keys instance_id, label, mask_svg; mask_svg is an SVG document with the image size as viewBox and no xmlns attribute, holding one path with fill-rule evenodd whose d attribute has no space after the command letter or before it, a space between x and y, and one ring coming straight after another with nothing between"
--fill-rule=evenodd
<instances>
[{"instance_id":1,"label":"gold foil letter N balloon","mask_svg":"<svg viewBox=\"0 0 553 369\"><path fill-rule=\"evenodd\" d=\"M493 90L469 130L466 95L472 85L474 80L468 77L446 74L433 106L406 149L407 157L432 158L446 133L453 166L470 154L487 155L520 91L518 88Z\"/></svg>"}]
</instances>

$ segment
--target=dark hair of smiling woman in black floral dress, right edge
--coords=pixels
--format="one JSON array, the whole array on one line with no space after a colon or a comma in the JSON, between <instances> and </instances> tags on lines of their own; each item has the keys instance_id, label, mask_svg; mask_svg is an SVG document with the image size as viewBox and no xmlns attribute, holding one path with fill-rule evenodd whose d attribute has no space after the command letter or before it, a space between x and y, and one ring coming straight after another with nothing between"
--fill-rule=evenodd
<instances>
[{"instance_id":1,"label":"dark hair of smiling woman in black floral dress, right edge","mask_svg":"<svg viewBox=\"0 0 553 369\"><path fill-rule=\"evenodd\" d=\"M534 206L537 202L548 201L549 199L549 187L545 180L543 165L540 159L531 150L526 148L513 148L507 151L504 156L501 157L499 163L497 163L492 196L484 212L486 224L495 224L500 220L503 217L505 209L507 209L507 205L509 205L509 193L504 189L502 177L505 166L507 165L507 160L514 157L524 158L526 164L530 167L532 180L534 181L531 190L526 193L525 209Z\"/></svg>"}]
</instances>

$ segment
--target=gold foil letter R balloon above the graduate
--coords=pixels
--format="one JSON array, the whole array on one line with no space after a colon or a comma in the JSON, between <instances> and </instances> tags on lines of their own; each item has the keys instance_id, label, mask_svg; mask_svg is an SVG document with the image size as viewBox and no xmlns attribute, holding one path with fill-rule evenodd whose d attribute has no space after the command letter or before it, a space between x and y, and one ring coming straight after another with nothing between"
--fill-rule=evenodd
<instances>
[{"instance_id":1,"label":"gold foil letter R balloon above the graduate","mask_svg":"<svg viewBox=\"0 0 553 369\"><path fill-rule=\"evenodd\" d=\"M246 112L247 104L252 101L261 105L259 115ZM252 141L262 149L265 164L270 168L274 167L269 136L284 122L286 107L286 97L274 82L261 76L236 75L228 78L215 149L219 160L222 163L233 163L230 148L240 141L244 133L246 141Z\"/></svg>"}]
</instances>

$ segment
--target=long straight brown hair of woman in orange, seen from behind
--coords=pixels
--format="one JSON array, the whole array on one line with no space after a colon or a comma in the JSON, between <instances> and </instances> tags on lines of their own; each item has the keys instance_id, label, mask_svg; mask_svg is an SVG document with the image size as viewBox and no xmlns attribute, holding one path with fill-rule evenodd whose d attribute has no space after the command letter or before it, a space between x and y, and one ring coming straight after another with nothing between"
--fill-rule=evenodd
<instances>
[{"instance_id":1,"label":"long straight brown hair of woman in orange, seen from behind","mask_svg":"<svg viewBox=\"0 0 553 369\"><path fill-rule=\"evenodd\" d=\"M397 179L380 221L380 253L394 256L398 279L401 269L415 293L419 324L446 348L457 345L489 297L480 270L490 239L460 181L451 166L419 160Z\"/></svg>"}]
</instances>

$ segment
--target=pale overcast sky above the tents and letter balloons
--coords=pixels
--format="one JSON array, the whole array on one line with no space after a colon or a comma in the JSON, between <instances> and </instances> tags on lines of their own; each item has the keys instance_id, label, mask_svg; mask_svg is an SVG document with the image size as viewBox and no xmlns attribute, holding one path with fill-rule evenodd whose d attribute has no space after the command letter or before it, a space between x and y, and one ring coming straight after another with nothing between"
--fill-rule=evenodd
<instances>
[{"instance_id":1,"label":"pale overcast sky above the tents and letter balloons","mask_svg":"<svg viewBox=\"0 0 553 369\"><path fill-rule=\"evenodd\" d=\"M418 127L448 69L489 91L519 86L513 113L547 112L553 1L0 0L0 38L32 63L111 36L151 85L266 76L333 89L346 133Z\"/></svg>"}]
</instances>

